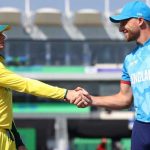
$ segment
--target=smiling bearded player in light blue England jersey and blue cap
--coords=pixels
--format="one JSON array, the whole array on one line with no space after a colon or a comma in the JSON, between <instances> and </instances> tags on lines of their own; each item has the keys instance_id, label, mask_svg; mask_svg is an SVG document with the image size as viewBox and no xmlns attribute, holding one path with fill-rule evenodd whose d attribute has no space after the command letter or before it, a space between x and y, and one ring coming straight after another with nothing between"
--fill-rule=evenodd
<instances>
[{"instance_id":1,"label":"smiling bearded player in light blue England jersey and blue cap","mask_svg":"<svg viewBox=\"0 0 150 150\"><path fill-rule=\"evenodd\" d=\"M150 7L140 0L130 1L110 21L119 23L126 41L135 41L137 47L125 58L119 92L90 95L92 106L124 109L134 103L131 150L150 150Z\"/></svg>"}]
</instances>

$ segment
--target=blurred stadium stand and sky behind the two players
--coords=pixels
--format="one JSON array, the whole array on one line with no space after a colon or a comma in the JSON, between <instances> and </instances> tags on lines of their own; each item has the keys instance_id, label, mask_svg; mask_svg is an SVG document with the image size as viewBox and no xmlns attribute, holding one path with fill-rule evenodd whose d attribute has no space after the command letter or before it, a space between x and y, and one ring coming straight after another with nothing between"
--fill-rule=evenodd
<instances>
[{"instance_id":1,"label":"blurred stadium stand and sky behind the two players","mask_svg":"<svg viewBox=\"0 0 150 150\"><path fill-rule=\"evenodd\" d=\"M108 16L129 0L0 1L0 23L12 25L3 52L9 69L93 95L118 91L135 43ZM130 150L132 110L79 109L14 92L14 116L28 150L98 150L103 139L107 150Z\"/></svg>"}]
</instances>

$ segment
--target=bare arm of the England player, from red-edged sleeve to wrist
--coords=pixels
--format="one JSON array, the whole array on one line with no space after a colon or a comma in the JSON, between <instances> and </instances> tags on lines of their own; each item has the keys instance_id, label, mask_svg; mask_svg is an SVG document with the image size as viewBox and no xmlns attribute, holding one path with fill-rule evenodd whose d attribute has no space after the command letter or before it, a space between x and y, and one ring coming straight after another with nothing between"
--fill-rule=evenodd
<instances>
[{"instance_id":1,"label":"bare arm of the England player, from red-edged sleeve to wrist","mask_svg":"<svg viewBox=\"0 0 150 150\"><path fill-rule=\"evenodd\" d=\"M120 84L120 92L111 96L91 96L92 106L109 109L128 108L132 103L132 90L128 84Z\"/></svg>"}]
</instances>

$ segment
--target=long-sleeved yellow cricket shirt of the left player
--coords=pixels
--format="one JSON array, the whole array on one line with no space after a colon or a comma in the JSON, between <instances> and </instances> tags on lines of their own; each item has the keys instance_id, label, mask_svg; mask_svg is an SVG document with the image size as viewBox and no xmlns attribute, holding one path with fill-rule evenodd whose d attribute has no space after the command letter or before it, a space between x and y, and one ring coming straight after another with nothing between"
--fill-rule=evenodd
<instances>
[{"instance_id":1,"label":"long-sleeved yellow cricket shirt of the left player","mask_svg":"<svg viewBox=\"0 0 150 150\"><path fill-rule=\"evenodd\" d=\"M21 77L9 71L0 61L0 128L11 129L12 90L53 99L63 99L66 93L64 88Z\"/></svg>"}]
</instances>

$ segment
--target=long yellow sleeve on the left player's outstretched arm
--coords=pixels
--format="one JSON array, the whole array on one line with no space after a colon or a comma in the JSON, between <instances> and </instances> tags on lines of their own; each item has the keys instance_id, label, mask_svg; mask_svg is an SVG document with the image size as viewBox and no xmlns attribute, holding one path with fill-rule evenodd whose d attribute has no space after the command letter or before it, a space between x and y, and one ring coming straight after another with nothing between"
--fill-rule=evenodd
<instances>
[{"instance_id":1,"label":"long yellow sleeve on the left player's outstretched arm","mask_svg":"<svg viewBox=\"0 0 150 150\"><path fill-rule=\"evenodd\" d=\"M51 86L25 77L21 77L9 70L0 63L0 86L10 88L18 92L24 92L35 96L63 99L66 89Z\"/></svg>"}]
</instances>

